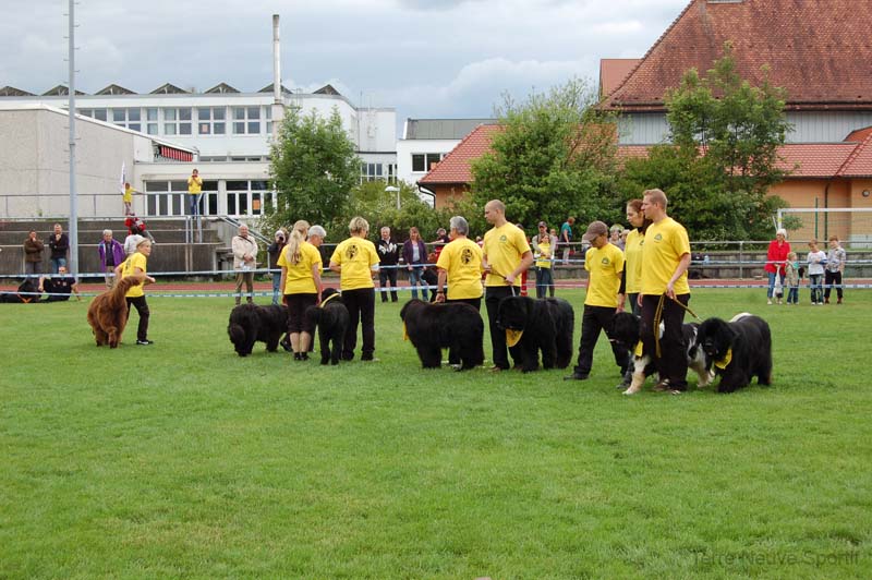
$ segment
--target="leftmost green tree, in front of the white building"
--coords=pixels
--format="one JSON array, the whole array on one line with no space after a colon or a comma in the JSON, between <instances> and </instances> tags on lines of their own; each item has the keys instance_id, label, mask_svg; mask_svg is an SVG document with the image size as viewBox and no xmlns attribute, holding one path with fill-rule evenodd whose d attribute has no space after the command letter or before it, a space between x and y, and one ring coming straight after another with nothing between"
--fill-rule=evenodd
<instances>
[{"instance_id":1,"label":"leftmost green tree, in front of the white building","mask_svg":"<svg viewBox=\"0 0 872 580\"><path fill-rule=\"evenodd\" d=\"M328 119L286 109L278 140L270 147L270 177L277 206L267 208L266 225L277 228L305 219L330 223L342 214L360 180L360 158L342 129L339 111Z\"/></svg>"}]
</instances>

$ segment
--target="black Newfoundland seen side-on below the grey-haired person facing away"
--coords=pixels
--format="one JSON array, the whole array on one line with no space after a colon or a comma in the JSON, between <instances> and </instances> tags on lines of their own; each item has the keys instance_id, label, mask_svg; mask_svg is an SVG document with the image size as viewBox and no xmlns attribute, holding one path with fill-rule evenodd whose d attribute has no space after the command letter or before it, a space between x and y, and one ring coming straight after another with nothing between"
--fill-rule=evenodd
<instances>
[{"instance_id":1,"label":"black Newfoundland seen side-on below the grey-haired person facing away","mask_svg":"<svg viewBox=\"0 0 872 580\"><path fill-rule=\"evenodd\" d=\"M403 304L400 318L424 368L439 367L444 348L449 349L449 359L460 361L458 371L484 363L484 323L469 304L431 304L413 299Z\"/></svg>"}]
</instances>

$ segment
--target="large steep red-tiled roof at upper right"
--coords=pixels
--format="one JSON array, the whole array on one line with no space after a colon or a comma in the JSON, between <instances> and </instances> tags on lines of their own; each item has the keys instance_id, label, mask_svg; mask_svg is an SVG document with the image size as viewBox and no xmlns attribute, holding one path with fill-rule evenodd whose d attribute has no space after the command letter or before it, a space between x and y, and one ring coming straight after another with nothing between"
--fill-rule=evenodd
<instances>
[{"instance_id":1,"label":"large steep red-tiled roof at upper right","mask_svg":"<svg viewBox=\"0 0 872 580\"><path fill-rule=\"evenodd\" d=\"M667 88L734 46L739 74L787 89L788 108L872 109L869 0L692 0L607 98L625 110L662 110Z\"/></svg>"}]
</instances>

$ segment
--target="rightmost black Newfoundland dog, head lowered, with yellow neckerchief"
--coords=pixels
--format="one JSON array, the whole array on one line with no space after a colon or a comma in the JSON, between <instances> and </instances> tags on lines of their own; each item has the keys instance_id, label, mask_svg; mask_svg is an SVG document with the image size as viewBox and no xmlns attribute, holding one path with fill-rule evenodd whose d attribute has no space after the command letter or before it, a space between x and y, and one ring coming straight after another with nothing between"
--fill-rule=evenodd
<instances>
[{"instance_id":1,"label":"rightmost black Newfoundland dog, head lowered, with yellow neckerchief","mask_svg":"<svg viewBox=\"0 0 872 580\"><path fill-rule=\"evenodd\" d=\"M718 392L747 387L754 375L758 384L772 384L772 333L760 316L743 312L729 322L708 318L700 325L697 345L720 375Z\"/></svg>"}]
</instances>

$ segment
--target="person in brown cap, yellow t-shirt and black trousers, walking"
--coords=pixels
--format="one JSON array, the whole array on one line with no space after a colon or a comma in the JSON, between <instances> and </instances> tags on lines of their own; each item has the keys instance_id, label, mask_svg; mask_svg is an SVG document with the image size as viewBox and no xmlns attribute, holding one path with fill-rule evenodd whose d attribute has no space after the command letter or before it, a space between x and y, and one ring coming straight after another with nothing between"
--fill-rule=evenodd
<instances>
[{"instance_id":1,"label":"person in brown cap, yellow t-shirt and black trousers, walking","mask_svg":"<svg viewBox=\"0 0 872 580\"><path fill-rule=\"evenodd\" d=\"M593 366L593 351L600 333L605 330L615 354L615 364L620 367L621 376L630 365L627 349L611 340L611 319L623 301L620 281L623 276L623 252L609 242L608 226L603 221L592 221L588 226L582 240L591 244L584 254L584 269L588 270L588 292L584 298L584 314L581 318L581 340L579 342L579 361L568 380L584 380Z\"/></svg>"}]
</instances>

